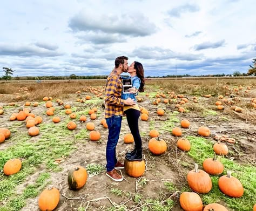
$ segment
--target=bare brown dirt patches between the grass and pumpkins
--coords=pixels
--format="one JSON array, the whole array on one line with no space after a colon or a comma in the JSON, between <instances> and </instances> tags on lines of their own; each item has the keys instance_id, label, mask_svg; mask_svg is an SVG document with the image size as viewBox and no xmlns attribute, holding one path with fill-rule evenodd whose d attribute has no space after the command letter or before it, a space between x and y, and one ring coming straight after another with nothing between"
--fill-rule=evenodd
<instances>
[{"instance_id":1,"label":"bare brown dirt patches between the grass and pumpkins","mask_svg":"<svg viewBox=\"0 0 256 211\"><path fill-rule=\"evenodd\" d=\"M255 91L254 91L255 92ZM64 99L65 103L73 104L76 100L76 95L70 95L70 98ZM142 96L143 102L139 103L140 106L143 106L149 110L150 120L156 120L155 128L160 130L163 126L163 122L170 118L170 114L174 111L174 105L167 105L164 103L159 104L166 111L163 117L158 117L156 114L157 106L152 105L152 99ZM188 99L191 100L192 96L188 96ZM18 105L23 105L24 102L18 102ZM207 104L208 99L202 98L200 101L201 104ZM1 103L0 106L6 105ZM53 106L57 106L57 103L53 103ZM100 120L104 118L104 108L101 103L97 104L98 110L100 110L100 115L95 122L97 127L100 127ZM45 111L43 105L38 107L31 107L33 113L39 114ZM5 111L3 118L0 118L0 127L12 127L14 121L8 121L9 114L17 112L17 107L8 108ZM7 113L7 115L6 115ZM241 164L252 164L256 165L256 127L251 122L234 118L229 113L224 111L217 111L218 115L199 115L198 112L187 112L177 114L178 119L189 119L191 126L184 131L184 136L194 135L197 136L197 129L199 126L206 125L211 128L211 139L213 142L214 135L216 134L226 134L230 137L235 137L237 144L227 144L228 148L233 151L232 157L235 161ZM220 117L226 117L228 121L221 121ZM90 121L90 118L88 118ZM43 121L50 121L49 118L44 115ZM179 122L176 122L174 125L180 126ZM79 128L84 128L84 125L79 125L76 130ZM19 127L20 130L26 130L23 126ZM55 210L78 210L79 207L86 207L86 210L105 210L108 207L116 205L118 210L118 205L124 204L127 207L131 207L131 210L141 210L142 207L135 207L135 204L130 200L127 195L117 196L110 192L111 188L118 188L123 190L125 193L140 193L145 198L158 198L160 194L166 192L166 187L164 185L165 181L170 181L174 183L176 187L182 187L186 183L186 174L193 168L193 159L190 158L186 153L177 150L176 141L177 138L171 135L171 132L162 132L161 138L163 138L168 145L167 152L160 156L153 156L147 147L148 141L150 139L149 135L143 137L143 154L144 158L147 161L147 169L143 175L143 179L147 180L145 186L138 186L138 179L132 178L122 170L122 174L125 178L122 182L114 182L105 175L105 172L100 173L99 175L89 176L87 179L86 185L77 191L69 189L67 177L68 172L73 167L80 165L86 166L87 164L106 164L105 160L105 147L107 141L108 130L102 128L100 131L102 143L98 144L97 142L90 142L90 144L81 145L77 144L78 148L73 151L70 156L64 159L59 165L63 168L62 172L53 173L51 172L52 185L60 190L60 202ZM139 130L141 133L149 134L150 121L141 121L139 120ZM170 128L171 131L171 128ZM76 132L76 131L75 131ZM122 129L120 132L120 137L117 145L118 159L123 161L125 158L125 152L133 148L133 144L124 144L123 137L126 133L130 133L129 126L127 121L124 118L122 122ZM39 137L33 137L31 139L38 139ZM0 145L0 150L4 150L11 145L14 145L15 142L5 141L4 144ZM229 157L231 155L227 155ZM186 161L189 166L180 168L177 165L177 160L183 159ZM22 185L19 185L16 190L17 194L21 194L22 190L29 185L31 182L35 181L38 175L42 172L45 172L44 165L41 165L38 171L30 175ZM182 210L178 203L178 198L175 195L169 195L166 198L171 198L177 202L172 210ZM25 210L39 210L38 209L38 198L28 199L26 206L23 207Z\"/></svg>"}]
</instances>

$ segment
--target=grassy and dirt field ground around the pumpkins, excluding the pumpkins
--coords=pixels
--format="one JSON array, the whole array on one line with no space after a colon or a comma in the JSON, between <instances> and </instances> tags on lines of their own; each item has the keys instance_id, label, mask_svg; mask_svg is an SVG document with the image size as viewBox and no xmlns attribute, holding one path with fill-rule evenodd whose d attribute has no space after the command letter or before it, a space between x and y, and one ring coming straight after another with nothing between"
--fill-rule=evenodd
<instances>
[{"instance_id":1,"label":"grassy and dirt field ground around the pumpkins, excluding the pumpkins","mask_svg":"<svg viewBox=\"0 0 256 211\"><path fill-rule=\"evenodd\" d=\"M38 196L48 187L56 187L60 192L55 210L183 210L179 203L180 194L193 191L186 176L194 163L203 169L203 161L213 158L217 135L234 138L235 143L223 141L228 147L228 154L219 156L218 160L224 165L224 172L210 176L211 191L199 194L203 205L220 203L230 211L253 209L256 203L254 78L147 80L145 92L138 96L142 98L139 106L149 112L148 121L139 119L146 170L139 178L132 178L122 170L125 178L122 182L113 182L105 175L108 130L100 124L104 119L104 84L104 80L98 80L0 85L0 106L4 110L0 115L0 127L11 132L11 137L0 144L0 169L11 158L22 161L18 173L10 176L4 175L3 171L0 173L0 211L39 210ZM149 96L146 97L145 93ZM157 98L157 94L160 97ZM188 99L187 103L180 104L181 99L175 97L179 94ZM211 97L205 97L208 94ZM220 95L224 98L219 99ZM45 96L52 97L53 116L46 115ZM86 100L86 96L91 96L91 99ZM193 97L197 97L196 103ZM56 99L61 99L63 105L59 105ZM160 102L153 105L156 99ZM168 99L168 103L164 103L164 99ZM30 101L31 106L25 106L26 101ZM32 106L35 101L38 102L37 107ZM223 103L224 110L217 109L216 101ZM65 114L65 104L71 105L72 112L77 114L75 119ZM177 104L182 105L185 112L178 112ZM241 107L242 112L233 111L231 105ZM88 114L92 107L97 107L95 120L91 120ZM30 137L25 121L9 120L19 108L29 108L30 113L42 117L43 122L37 125L39 135ZM157 115L158 108L165 111L163 116ZM86 122L79 122L80 115L87 117ZM60 118L57 124L52 122L56 116ZM188 152L177 148L179 137L172 135L172 129L180 127L183 119L190 121L189 128L181 128L182 137L191 144ZM71 120L77 124L73 131L66 127ZM95 124L95 130L101 136L99 141L90 140L87 122ZM198 135L199 126L210 128L211 135ZM148 147L149 132L153 129L167 144L167 151L159 156L153 155ZM122 161L125 152L133 148L133 144L124 144L123 137L127 133L130 130L124 117L117 145L117 156ZM67 177L70 169L78 165L86 168L89 176L85 186L74 191L69 189ZM231 198L218 187L220 176L227 171L232 171L244 187L240 198Z\"/></svg>"}]
</instances>

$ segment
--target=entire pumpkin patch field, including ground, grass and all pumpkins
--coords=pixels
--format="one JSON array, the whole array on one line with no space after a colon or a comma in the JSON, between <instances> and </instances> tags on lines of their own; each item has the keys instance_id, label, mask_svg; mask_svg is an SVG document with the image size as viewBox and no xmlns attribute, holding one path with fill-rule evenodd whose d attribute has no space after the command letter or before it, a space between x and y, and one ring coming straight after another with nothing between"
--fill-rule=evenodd
<instances>
[{"instance_id":1,"label":"entire pumpkin patch field, including ground, grass and all pumpkins","mask_svg":"<svg viewBox=\"0 0 256 211\"><path fill-rule=\"evenodd\" d=\"M0 84L0 211L255 210L256 79L151 79L143 161L123 117L105 174L105 81ZM253 209L254 207L254 209Z\"/></svg>"}]
</instances>

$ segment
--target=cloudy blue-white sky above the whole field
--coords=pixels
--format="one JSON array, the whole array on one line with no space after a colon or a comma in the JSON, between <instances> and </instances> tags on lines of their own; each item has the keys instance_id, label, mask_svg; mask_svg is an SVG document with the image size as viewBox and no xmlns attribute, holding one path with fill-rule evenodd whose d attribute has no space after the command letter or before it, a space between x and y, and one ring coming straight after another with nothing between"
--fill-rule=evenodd
<instances>
[{"instance_id":1,"label":"cloudy blue-white sky above the whole field","mask_svg":"<svg viewBox=\"0 0 256 211\"><path fill-rule=\"evenodd\" d=\"M107 75L126 55L145 76L247 72L256 58L254 0L9 0L0 67L14 76ZM2 72L3 73L3 72ZM0 76L2 76L0 73Z\"/></svg>"}]
</instances>

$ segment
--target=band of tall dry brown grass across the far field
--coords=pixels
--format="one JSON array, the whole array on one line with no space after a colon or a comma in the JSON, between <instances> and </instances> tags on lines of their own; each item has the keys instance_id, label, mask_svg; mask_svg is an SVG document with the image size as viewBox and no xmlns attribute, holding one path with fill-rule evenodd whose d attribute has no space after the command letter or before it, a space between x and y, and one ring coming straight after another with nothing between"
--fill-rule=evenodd
<instances>
[{"instance_id":1,"label":"band of tall dry brown grass across the far field","mask_svg":"<svg viewBox=\"0 0 256 211\"><path fill-rule=\"evenodd\" d=\"M19 101L24 100L42 100L43 97L48 96L52 98L65 98L70 93L76 93L78 90L83 90L87 86L104 86L105 80L86 80L86 81L65 81L59 82L43 82L43 83L7 83L0 85L0 94L10 94L5 96L4 101L18 101L16 96L21 96ZM151 87L166 89L166 91L174 91L179 94L197 95L212 94L218 96L225 94L226 90L223 86L256 86L256 80L252 78L231 78L231 79L151 79L146 80L146 91L151 90ZM26 87L27 92L22 89Z\"/></svg>"}]
</instances>

